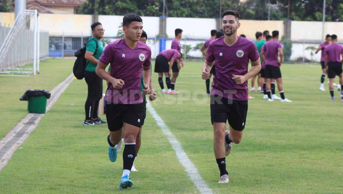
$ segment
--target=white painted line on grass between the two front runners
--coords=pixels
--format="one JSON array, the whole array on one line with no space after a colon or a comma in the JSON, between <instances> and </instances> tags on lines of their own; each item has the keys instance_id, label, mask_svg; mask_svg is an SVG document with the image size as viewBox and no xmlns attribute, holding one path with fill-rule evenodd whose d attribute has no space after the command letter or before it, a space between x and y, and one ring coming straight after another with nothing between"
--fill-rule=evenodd
<instances>
[{"instance_id":1,"label":"white painted line on grass between the two front runners","mask_svg":"<svg viewBox=\"0 0 343 194\"><path fill-rule=\"evenodd\" d=\"M182 166L185 167L185 171L187 172L189 178L193 181L194 185L198 188L200 193L202 194L212 194L211 189L207 186L205 181L201 178L200 174L198 173L197 168L192 163L192 161L188 158L185 151L182 149L182 146L179 141L177 141L176 137L171 133L169 128L166 126L164 121L161 117L158 116L154 108L150 103L146 104L146 107L150 114L156 120L156 123L159 128L161 128L162 132L166 135L167 139L169 140L171 146L175 150L176 156L179 159L179 162Z\"/></svg>"}]
</instances>

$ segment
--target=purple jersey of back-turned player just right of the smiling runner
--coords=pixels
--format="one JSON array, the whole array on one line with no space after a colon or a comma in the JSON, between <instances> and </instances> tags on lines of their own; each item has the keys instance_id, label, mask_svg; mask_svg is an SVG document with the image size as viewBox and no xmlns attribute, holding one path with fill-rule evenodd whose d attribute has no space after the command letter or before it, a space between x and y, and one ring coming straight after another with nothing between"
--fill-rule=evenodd
<instances>
[{"instance_id":1,"label":"purple jersey of back-turned player just right of the smiling runner","mask_svg":"<svg viewBox=\"0 0 343 194\"><path fill-rule=\"evenodd\" d=\"M265 65L280 67L280 64L277 62L279 61L277 57L277 53L279 53L277 50L279 48L282 49L282 45L275 40L268 41L263 45L261 51L264 51Z\"/></svg>"}]
</instances>

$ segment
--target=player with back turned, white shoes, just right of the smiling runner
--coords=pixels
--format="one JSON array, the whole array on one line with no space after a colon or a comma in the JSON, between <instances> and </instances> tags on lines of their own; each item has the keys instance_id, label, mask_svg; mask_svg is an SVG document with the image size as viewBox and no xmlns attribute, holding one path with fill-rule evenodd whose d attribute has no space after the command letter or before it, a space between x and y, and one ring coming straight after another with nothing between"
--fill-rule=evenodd
<instances>
[{"instance_id":1,"label":"player with back turned, white shoes, just right of the smiling runner","mask_svg":"<svg viewBox=\"0 0 343 194\"><path fill-rule=\"evenodd\" d=\"M283 60L283 51L282 51L282 45L280 42L277 42L279 39L279 31L274 30L272 31L272 40L265 43L263 46L263 49L261 50L261 58L262 61L265 63L265 78L267 78L267 95L268 95L268 101L272 102L274 101L272 99L272 96L270 95L271 92L271 82L272 79L276 79L277 82L277 89L279 90L279 93L281 95L281 102L292 102L291 100L288 100L285 98L285 94L283 91L282 86L282 76L281 76L281 70L280 66L282 65ZM277 58L277 53L280 55L280 61Z\"/></svg>"}]
</instances>

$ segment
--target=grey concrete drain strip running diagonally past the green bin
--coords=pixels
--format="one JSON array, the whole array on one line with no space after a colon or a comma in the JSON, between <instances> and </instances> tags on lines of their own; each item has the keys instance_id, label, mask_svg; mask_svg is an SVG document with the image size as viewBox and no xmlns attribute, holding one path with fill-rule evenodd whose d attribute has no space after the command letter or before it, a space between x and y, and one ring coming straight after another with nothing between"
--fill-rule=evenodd
<instances>
[{"instance_id":1,"label":"grey concrete drain strip running diagonally past the green bin","mask_svg":"<svg viewBox=\"0 0 343 194\"><path fill-rule=\"evenodd\" d=\"M64 81L51 90L51 97L47 100L46 112L58 100L60 95L73 81L74 75L71 73ZM0 171L7 165L16 149L21 146L28 135L38 126L40 119L45 114L29 113L19 123L10 130L4 138L0 140Z\"/></svg>"}]
</instances>

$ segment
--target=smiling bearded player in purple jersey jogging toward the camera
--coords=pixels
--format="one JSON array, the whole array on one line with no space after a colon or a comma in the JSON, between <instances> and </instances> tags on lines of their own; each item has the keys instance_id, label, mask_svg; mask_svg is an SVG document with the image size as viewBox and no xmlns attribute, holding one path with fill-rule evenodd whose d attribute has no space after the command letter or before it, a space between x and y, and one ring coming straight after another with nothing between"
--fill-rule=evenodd
<instances>
[{"instance_id":1,"label":"smiling bearded player in purple jersey jogging toward the camera","mask_svg":"<svg viewBox=\"0 0 343 194\"><path fill-rule=\"evenodd\" d=\"M243 137L248 111L247 80L260 71L261 63L255 44L237 36L240 27L238 12L224 11L222 18L225 36L210 43L202 68L202 79L210 76L215 61L216 76L210 95L213 148L221 176L218 183L228 183L225 156L230 153L232 142L238 144ZM253 67L248 72L249 59ZM226 120L229 131L225 131Z\"/></svg>"}]
</instances>

